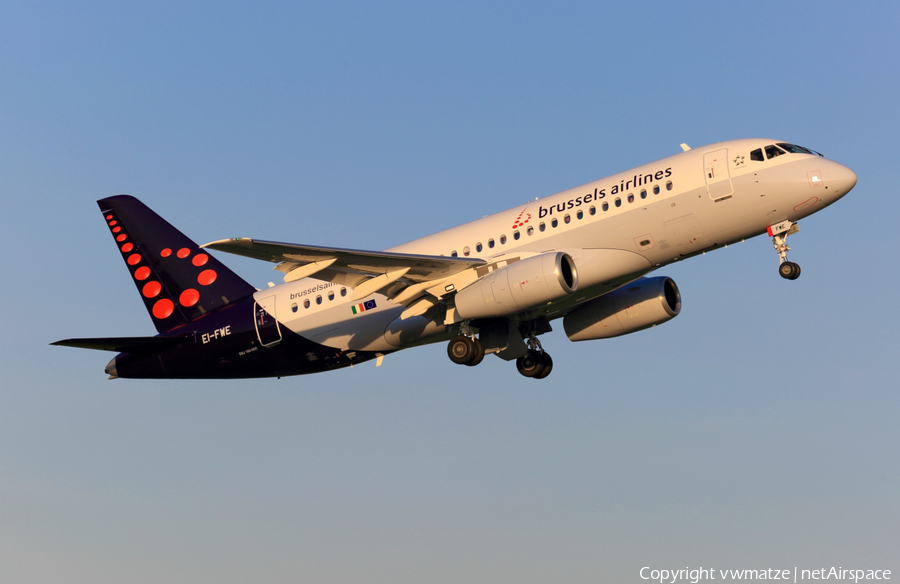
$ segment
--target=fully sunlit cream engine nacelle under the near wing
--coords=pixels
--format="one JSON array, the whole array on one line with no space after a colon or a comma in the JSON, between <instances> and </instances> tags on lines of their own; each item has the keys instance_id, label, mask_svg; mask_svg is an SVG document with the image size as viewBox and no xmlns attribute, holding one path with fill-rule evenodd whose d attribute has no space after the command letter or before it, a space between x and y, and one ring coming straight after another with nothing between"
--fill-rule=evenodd
<instances>
[{"instance_id":1,"label":"fully sunlit cream engine nacelle under the near wing","mask_svg":"<svg viewBox=\"0 0 900 584\"><path fill-rule=\"evenodd\" d=\"M564 252L545 253L494 270L456 294L462 318L488 318L527 310L571 294L578 272Z\"/></svg>"}]
</instances>

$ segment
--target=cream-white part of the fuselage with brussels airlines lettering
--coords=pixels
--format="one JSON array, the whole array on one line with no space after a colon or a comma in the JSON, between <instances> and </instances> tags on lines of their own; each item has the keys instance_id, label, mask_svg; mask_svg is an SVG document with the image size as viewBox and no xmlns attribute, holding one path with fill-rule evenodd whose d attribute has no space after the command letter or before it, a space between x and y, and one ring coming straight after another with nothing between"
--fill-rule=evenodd
<instances>
[{"instance_id":1,"label":"cream-white part of the fuselage with brussels airlines lettering","mask_svg":"<svg viewBox=\"0 0 900 584\"><path fill-rule=\"evenodd\" d=\"M602 258L605 250L619 250L637 262L638 277L760 235L771 225L796 222L855 184L850 169L813 154L751 159L752 151L776 143L746 139L695 148L387 251L489 262L566 251L578 265L582 258ZM579 289L542 306L541 314L559 318L608 291L602 286ZM450 332L445 323L421 317L400 322L404 306L381 294L351 301L349 288L314 278L261 290L256 296L274 296L270 311L281 326L343 351L394 351L445 339ZM369 299L375 308L352 310Z\"/></svg>"}]
</instances>

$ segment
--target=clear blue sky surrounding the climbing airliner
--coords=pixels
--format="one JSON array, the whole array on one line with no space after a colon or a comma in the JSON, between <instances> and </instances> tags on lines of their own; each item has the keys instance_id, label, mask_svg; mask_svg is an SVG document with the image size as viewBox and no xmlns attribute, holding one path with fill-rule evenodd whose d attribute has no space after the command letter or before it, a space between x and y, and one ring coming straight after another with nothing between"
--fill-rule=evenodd
<instances>
[{"instance_id":1,"label":"clear blue sky surrounding the climbing airliner","mask_svg":"<svg viewBox=\"0 0 900 584\"><path fill-rule=\"evenodd\" d=\"M5 2L0 578L900 571L898 12ZM578 344L557 326L543 383L442 345L281 380L107 381L111 355L48 346L153 332L102 197L198 242L384 249L756 136L859 175L792 236L801 278L765 238L670 266L679 318Z\"/></svg>"}]
</instances>

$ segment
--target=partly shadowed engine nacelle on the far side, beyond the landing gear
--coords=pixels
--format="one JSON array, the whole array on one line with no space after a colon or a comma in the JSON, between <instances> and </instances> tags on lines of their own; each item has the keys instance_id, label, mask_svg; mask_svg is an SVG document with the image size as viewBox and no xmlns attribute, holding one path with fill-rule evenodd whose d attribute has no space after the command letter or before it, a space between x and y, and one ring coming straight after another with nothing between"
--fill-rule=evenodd
<instances>
[{"instance_id":1,"label":"partly shadowed engine nacelle on the far side, beyond the landing gear","mask_svg":"<svg viewBox=\"0 0 900 584\"><path fill-rule=\"evenodd\" d=\"M640 278L595 298L563 318L571 341L608 339L662 324L681 312L681 293L671 278Z\"/></svg>"}]
</instances>

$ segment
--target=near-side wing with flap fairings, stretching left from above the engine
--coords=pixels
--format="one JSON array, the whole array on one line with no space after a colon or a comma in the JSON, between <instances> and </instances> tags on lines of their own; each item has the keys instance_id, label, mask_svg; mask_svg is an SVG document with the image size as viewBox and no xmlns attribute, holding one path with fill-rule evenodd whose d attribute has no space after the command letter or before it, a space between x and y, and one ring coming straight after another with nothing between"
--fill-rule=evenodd
<instances>
[{"instance_id":1,"label":"near-side wing with flap fairings, stretching left from above the engine","mask_svg":"<svg viewBox=\"0 0 900 584\"><path fill-rule=\"evenodd\" d=\"M354 298L384 291L395 302L408 304L427 288L469 268L485 265L478 258L363 251L260 241L222 239L200 247L278 264L285 282L316 278L354 288Z\"/></svg>"}]
</instances>

